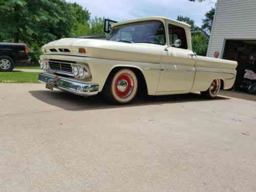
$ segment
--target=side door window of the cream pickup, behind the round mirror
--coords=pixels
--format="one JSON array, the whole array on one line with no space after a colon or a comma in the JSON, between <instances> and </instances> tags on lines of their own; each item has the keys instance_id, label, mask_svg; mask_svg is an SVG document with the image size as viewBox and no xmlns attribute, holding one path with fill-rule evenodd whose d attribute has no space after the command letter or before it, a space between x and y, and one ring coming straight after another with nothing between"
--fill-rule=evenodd
<instances>
[{"instance_id":1,"label":"side door window of the cream pickup, behind the round mirror","mask_svg":"<svg viewBox=\"0 0 256 192\"><path fill-rule=\"evenodd\" d=\"M178 27L175 25L168 25L168 30L169 30L169 41L170 44L174 44L174 41L177 39L181 40L181 46L179 47L180 49L187 49L187 37L186 37L186 32L185 29L182 27Z\"/></svg>"}]
</instances>

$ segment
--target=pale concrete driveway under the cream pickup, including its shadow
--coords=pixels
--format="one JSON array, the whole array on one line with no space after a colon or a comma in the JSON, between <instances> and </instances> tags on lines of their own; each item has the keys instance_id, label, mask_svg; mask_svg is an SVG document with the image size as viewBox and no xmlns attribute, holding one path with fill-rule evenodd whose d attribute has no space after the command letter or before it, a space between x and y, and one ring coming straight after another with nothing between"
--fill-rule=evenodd
<instances>
[{"instance_id":1,"label":"pale concrete driveway under the cream pickup, including its shadow","mask_svg":"<svg viewBox=\"0 0 256 192\"><path fill-rule=\"evenodd\" d=\"M0 84L0 191L256 191L256 102L114 106Z\"/></svg>"}]
</instances>

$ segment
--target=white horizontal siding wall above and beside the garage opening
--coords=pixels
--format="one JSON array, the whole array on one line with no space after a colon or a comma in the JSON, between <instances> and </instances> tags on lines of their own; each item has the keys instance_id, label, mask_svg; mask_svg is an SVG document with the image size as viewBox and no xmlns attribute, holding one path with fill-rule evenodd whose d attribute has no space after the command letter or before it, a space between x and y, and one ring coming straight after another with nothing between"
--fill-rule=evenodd
<instances>
[{"instance_id":1,"label":"white horizontal siding wall above and beside the garage opening","mask_svg":"<svg viewBox=\"0 0 256 192\"><path fill-rule=\"evenodd\" d=\"M256 39L256 0L218 0L208 57L223 54L226 39Z\"/></svg>"}]
</instances>

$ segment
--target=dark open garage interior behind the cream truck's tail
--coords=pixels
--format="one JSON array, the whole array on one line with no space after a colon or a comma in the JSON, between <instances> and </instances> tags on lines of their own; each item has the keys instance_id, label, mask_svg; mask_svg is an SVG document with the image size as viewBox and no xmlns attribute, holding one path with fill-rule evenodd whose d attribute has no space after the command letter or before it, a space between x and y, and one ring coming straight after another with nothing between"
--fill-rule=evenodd
<instances>
[{"instance_id":1,"label":"dark open garage interior behind the cream truck's tail","mask_svg":"<svg viewBox=\"0 0 256 192\"><path fill-rule=\"evenodd\" d=\"M234 90L256 95L256 40L226 40L223 59L238 62Z\"/></svg>"}]
</instances>

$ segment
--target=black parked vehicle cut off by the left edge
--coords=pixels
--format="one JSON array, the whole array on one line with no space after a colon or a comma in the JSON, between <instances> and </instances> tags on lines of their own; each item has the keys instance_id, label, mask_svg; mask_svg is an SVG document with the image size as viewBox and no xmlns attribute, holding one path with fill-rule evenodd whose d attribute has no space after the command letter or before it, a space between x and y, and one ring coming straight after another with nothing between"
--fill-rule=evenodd
<instances>
[{"instance_id":1,"label":"black parked vehicle cut off by the left edge","mask_svg":"<svg viewBox=\"0 0 256 192\"><path fill-rule=\"evenodd\" d=\"M12 71L16 63L29 60L26 44L0 42L0 71Z\"/></svg>"}]
</instances>

